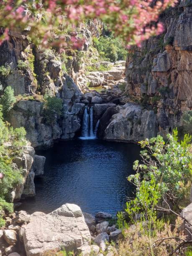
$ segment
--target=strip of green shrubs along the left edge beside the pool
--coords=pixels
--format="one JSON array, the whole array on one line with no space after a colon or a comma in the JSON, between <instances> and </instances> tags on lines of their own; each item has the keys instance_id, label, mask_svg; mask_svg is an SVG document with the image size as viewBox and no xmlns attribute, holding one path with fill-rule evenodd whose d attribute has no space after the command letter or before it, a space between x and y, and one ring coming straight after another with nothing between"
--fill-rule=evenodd
<instances>
[{"instance_id":1,"label":"strip of green shrubs along the left edge beside the pool","mask_svg":"<svg viewBox=\"0 0 192 256\"><path fill-rule=\"evenodd\" d=\"M26 131L23 127L13 129L3 119L3 115L8 114L15 102L10 87L5 89L0 102L3 104L0 105L0 227L2 227L5 225L5 220L2 218L4 211L13 212L13 203L11 203L13 198L10 193L23 182L22 172L15 168L13 159L22 155L23 146L26 145Z\"/></svg>"}]
</instances>

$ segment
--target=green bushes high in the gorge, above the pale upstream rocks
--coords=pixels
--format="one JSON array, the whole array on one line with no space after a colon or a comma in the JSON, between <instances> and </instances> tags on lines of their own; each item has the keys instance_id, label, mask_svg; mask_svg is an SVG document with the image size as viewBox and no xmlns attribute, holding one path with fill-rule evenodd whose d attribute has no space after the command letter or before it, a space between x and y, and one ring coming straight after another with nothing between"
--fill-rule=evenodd
<instances>
[{"instance_id":1,"label":"green bushes high in the gorge, above the pale upstream rocks","mask_svg":"<svg viewBox=\"0 0 192 256\"><path fill-rule=\"evenodd\" d=\"M119 38L113 36L104 37L101 36L99 39L94 37L93 44L100 56L105 60L115 62L117 60L125 60L127 51L123 47L123 43Z\"/></svg>"}]
</instances>

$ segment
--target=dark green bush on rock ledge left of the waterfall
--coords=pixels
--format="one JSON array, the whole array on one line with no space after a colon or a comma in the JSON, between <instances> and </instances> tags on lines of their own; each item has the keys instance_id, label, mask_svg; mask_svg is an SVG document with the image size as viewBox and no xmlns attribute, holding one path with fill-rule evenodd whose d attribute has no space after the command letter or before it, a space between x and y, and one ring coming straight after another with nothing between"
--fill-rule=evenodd
<instances>
[{"instance_id":1,"label":"dark green bush on rock ledge left of the waterfall","mask_svg":"<svg viewBox=\"0 0 192 256\"><path fill-rule=\"evenodd\" d=\"M47 123L54 123L57 118L61 116L63 101L57 97L51 97L49 95L44 96L44 116Z\"/></svg>"}]
</instances>

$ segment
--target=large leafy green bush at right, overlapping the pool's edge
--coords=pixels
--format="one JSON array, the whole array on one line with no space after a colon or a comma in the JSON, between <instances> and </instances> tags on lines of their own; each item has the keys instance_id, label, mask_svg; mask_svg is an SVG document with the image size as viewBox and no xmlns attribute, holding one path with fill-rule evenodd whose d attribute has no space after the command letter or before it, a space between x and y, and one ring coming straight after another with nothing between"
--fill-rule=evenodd
<instances>
[{"instance_id":1,"label":"large leafy green bush at right, overlapping the pool's edge","mask_svg":"<svg viewBox=\"0 0 192 256\"><path fill-rule=\"evenodd\" d=\"M191 181L192 154L189 152L191 136L185 135L178 142L177 130L167 135L165 142L161 136L141 141L142 163L135 161L133 169L136 174L128 177L128 181L136 186L136 197L126 203L125 212L133 223L151 221L156 223L158 207L165 207L168 201L178 211L179 201L183 200L184 190ZM119 214L119 225L124 225Z\"/></svg>"}]
</instances>

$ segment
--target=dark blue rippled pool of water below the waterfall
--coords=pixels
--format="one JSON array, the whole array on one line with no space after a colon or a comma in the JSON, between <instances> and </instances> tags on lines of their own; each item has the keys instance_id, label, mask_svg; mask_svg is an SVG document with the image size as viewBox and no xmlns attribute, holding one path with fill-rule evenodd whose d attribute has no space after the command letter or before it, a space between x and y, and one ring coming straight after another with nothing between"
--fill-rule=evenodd
<instances>
[{"instance_id":1,"label":"dark blue rippled pool of water below the waterfall","mask_svg":"<svg viewBox=\"0 0 192 256\"><path fill-rule=\"evenodd\" d=\"M84 212L116 214L133 195L126 177L133 173L139 151L133 143L78 139L37 152L46 157L44 176L35 179L36 196L24 200L20 209L48 213L74 203Z\"/></svg>"}]
</instances>

